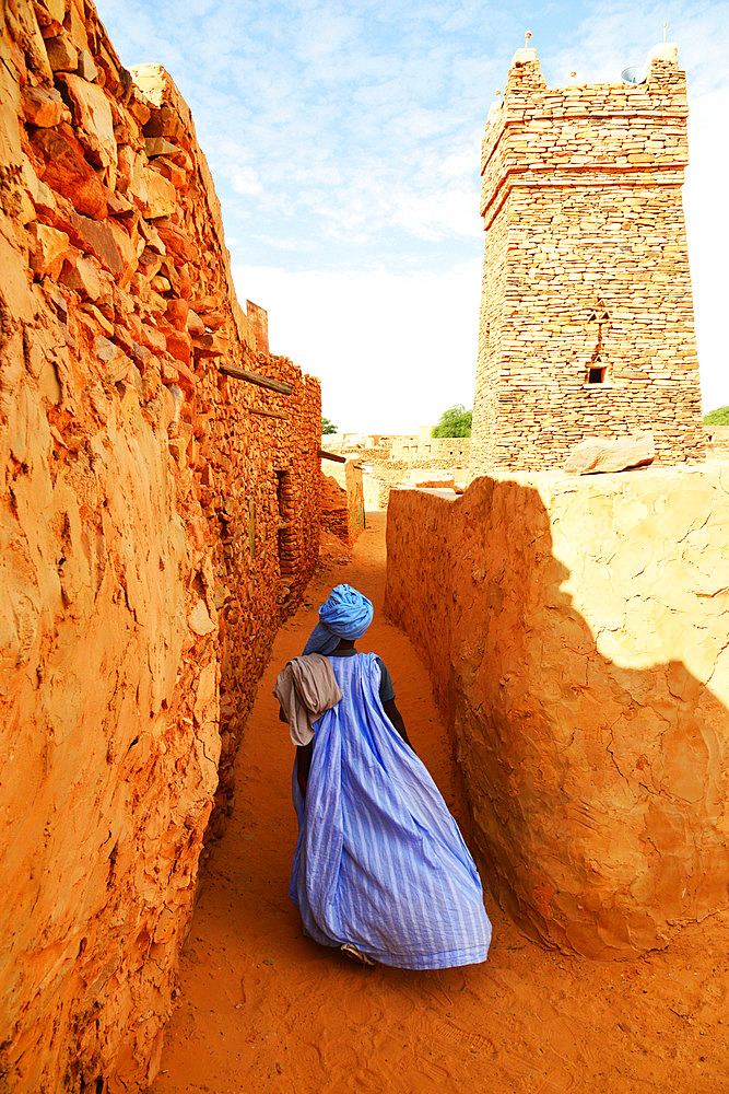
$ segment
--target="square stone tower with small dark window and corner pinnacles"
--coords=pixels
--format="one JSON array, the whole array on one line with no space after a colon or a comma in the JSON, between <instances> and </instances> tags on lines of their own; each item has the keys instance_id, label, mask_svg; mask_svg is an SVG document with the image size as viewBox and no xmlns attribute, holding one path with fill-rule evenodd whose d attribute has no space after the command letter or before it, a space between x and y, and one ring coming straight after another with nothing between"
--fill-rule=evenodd
<instances>
[{"instance_id":1,"label":"square stone tower with small dark window and corner pinnacles","mask_svg":"<svg viewBox=\"0 0 729 1094\"><path fill-rule=\"evenodd\" d=\"M475 470L557 467L586 437L645 429L659 463L704 454L675 47L648 73L548 88L521 49L490 113Z\"/></svg>"}]
</instances>

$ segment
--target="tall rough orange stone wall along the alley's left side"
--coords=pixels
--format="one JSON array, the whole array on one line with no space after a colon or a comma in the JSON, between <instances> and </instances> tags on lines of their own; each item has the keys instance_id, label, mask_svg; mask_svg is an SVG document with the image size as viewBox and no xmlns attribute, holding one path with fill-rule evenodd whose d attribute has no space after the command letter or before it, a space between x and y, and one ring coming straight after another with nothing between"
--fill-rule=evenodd
<instances>
[{"instance_id":1,"label":"tall rough orange stone wall along the alley's left side","mask_svg":"<svg viewBox=\"0 0 729 1094\"><path fill-rule=\"evenodd\" d=\"M83 0L0 32L0 1090L133 1091L316 561L320 393L236 301L166 73Z\"/></svg>"}]
</instances>

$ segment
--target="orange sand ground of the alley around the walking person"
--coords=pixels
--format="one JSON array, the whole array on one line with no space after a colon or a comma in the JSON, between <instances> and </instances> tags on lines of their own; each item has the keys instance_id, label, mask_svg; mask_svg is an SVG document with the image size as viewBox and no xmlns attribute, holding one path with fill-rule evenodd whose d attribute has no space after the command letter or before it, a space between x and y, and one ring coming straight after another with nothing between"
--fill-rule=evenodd
<instances>
[{"instance_id":1,"label":"orange sand ground of the alley around the walking person","mask_svg":"<svg viewBox=\"0 0 729 1094\"><path fill-rule=\"evenodd\" d=\"M271 688L332 585L346 581L374 601L358 647L390 668L413 744L468 839L426 672L383 618L385 516L367 520L351 562L328 551L277 639L238 757L235 813L203 868L154 1094L729 1091L727 916L669 953L595 964L525 939L486 878L494 941L485 965L361 968L303 938L287 895L293 748Z\"/></svg>"}]
</instances>

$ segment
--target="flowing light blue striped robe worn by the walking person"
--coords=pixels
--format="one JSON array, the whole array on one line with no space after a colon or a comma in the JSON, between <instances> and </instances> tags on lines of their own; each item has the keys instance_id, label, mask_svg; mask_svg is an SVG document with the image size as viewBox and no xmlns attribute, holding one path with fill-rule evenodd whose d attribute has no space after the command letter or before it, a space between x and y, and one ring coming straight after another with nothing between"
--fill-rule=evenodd
<instances>
[{"instance_id":1,"label":"flowing light blue striped robe worn by the walking person","mask_svg":"<svg viewBox=\"0 0 729 1094\"><path fill-rule=\"evenodd\" d=\"M379 700L374 653L332 657L342 700L315 723L291 898L307 934L384 965L486 959L491 923L473 859L437 787Z\"/></svg>"}]
</instances>

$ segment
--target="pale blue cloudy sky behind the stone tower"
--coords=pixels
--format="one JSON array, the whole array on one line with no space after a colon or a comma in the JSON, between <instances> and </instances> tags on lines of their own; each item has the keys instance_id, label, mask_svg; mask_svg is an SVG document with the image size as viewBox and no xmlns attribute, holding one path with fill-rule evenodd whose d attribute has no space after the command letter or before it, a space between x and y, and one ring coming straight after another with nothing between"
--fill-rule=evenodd
<instances>
[{"instance_id":1,"label":"pale blue cloudy sky behind the stone tower","mask_svg":"<svg viewBox=\"0 0 729 1094\"><path fill-rule=\"evenodd\" d=\"M662 39L690 93L684 188L705 409L729 404L729 2L97 0L125 65L164 65L196 119L236 290L321 377L340 429L471 405L479 155L514 51L548 83L618 80Z\"/></svg>"}]
</instances>

